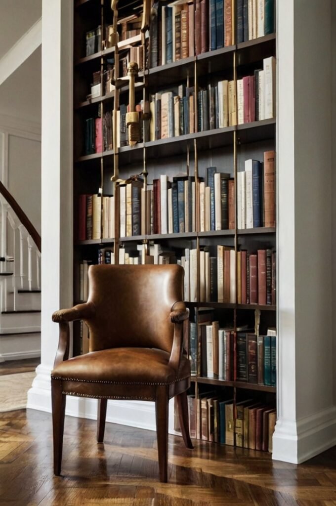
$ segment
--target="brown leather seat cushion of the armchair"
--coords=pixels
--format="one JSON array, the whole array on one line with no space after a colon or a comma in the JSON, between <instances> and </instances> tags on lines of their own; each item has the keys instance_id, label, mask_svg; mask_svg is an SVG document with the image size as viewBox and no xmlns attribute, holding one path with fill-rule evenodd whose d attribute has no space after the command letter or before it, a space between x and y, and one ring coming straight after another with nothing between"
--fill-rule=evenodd
<instances>
[{"instance_id":1,"label":"brown leather seat cushion of the armchair","mask_svg":"<svg viewBox=\"0 0 336 506\"><path fill-rule=\"evenodd\" d=\"M128 385L169 385L190 375L190 363L181 357L178 373L168 365L170 354L155 348L112 348L61 362L54 379Z\"/></svg>"}]
</instances>

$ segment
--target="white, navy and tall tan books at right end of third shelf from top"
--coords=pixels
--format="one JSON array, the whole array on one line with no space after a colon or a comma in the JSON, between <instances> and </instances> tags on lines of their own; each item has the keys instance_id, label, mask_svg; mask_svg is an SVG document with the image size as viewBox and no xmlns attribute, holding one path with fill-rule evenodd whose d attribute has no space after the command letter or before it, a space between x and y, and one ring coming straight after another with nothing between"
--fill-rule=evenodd
<instances>
[{"instance_id":1,"label":"white, navy and tall tan books at right end of third shelf from top","mask_svg":"<svg viewBox=\"0 0 336 506\"><path fill-rule=\"evenodd\" d=\"M275 153L266 151L264 162L246 160L237 174L238 229L275 227Z\"/></svg>"}]
</instances>

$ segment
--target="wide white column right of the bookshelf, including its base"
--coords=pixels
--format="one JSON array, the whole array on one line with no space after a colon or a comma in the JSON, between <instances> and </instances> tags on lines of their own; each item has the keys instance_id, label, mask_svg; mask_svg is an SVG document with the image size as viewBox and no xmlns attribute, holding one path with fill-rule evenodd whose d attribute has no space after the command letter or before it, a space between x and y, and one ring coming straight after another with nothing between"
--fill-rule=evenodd
<instances>
[{"instance_id":1,"label":"wide white column right of the bookshelf, including its base","mask_svg":"<svg viewBox=\"0 0 336 506\"><path fill-rule=\"evenodd\" d=\"M279 418L273 458L297 463L336 444L331 4L277 4Z\"/></svg>"}]
</instances>

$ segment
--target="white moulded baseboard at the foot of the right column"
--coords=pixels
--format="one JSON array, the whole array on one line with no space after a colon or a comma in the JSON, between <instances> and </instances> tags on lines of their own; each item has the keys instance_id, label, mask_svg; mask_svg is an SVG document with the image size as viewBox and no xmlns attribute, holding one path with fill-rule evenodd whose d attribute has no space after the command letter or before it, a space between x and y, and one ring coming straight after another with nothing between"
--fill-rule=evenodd
<instances>
[{"instance_id":1,"label":"white moulded baseboard at the foot of the right column","mask_svg":"<svg viewBox=\"0 0 336 506\"><path fill-rule=\"evenodd\" d=\"M273 435L274 460L300 464L336 445L336 406L297 421L279 419Z\"/></svg>"}]
</instances>

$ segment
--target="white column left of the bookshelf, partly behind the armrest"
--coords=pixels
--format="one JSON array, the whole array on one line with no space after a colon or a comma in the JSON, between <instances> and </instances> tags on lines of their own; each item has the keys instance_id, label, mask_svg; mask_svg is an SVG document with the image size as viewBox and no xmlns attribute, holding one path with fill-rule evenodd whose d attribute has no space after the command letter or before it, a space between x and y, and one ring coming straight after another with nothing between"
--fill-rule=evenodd
<instances>
[{"instance_id":1,"label":"white column left of the bookshelf, partly behind the armrest","mask_svg":"<svg viewBox=\"0 0 336 506\"><path fill-rule=\"evenodd\" d=\"M58 344L51 316L72 305L72 9L42 2L41 364L28 393L28 407L42 410Z\"/></svg>"}]
</instances>

